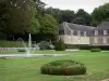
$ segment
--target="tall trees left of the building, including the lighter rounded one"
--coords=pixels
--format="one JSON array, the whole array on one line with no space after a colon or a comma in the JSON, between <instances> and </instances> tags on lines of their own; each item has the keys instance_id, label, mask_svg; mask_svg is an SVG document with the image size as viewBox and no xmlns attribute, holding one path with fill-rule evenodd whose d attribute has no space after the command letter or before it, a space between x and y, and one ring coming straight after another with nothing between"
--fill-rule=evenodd
<instances>
[{"instance_id":1,"label":"tall trees left of the building, including the lighter rounded one","mask_svg":"<svg viewBox=\"0 0 109 81\"><path fill-rule=\"evenodd\" d=\"M58 35L58 24L52 15L45 14L45 3L40 0L1 0L0 38L11 39L37 35ZM45 35L46 35L45 33Z\"/></svg>"}]
</instances>

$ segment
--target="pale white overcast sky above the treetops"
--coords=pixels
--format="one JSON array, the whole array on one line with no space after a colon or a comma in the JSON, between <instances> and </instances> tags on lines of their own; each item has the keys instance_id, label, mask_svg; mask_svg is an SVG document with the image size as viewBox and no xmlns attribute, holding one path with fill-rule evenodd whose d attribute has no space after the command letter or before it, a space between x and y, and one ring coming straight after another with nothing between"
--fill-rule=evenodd
<instances>
[{"instance_id":1,"label":"pale white overcast sky above the treetops","mask_svg":"<svg viewBox=\"0 0 109 81\"><path fill-rule=\"evenodd\" d=\"M78 9L84 9L88 13L92 13L93 10L109 0L41 0L48 6L59 8L61 10L73 10L77 11Z\"/></svg>"}]
</instances>

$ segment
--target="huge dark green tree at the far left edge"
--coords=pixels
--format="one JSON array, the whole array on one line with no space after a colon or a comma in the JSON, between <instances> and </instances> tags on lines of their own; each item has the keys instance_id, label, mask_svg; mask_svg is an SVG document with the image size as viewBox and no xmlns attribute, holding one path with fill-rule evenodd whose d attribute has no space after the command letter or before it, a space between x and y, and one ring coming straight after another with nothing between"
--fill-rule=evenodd
<instances>
[{"instance_id":1,"label":"huge dark green tree at the far left edge","mask_svg":"<svg viewBox=\"0 0 109 81\"><path fill-rule=\"evenodd\" d=\"M32 24L34 2L32 0L0 1L0 29L7 36L25 33Z\"/></svg>"}]
</instances>

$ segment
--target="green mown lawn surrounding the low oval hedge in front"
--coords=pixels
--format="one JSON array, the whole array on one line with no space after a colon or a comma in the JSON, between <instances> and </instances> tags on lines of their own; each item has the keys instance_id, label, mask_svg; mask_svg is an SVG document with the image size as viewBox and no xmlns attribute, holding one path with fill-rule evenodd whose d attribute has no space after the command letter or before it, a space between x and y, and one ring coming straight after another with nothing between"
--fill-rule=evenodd
<instances>
[{"instance_id":1,"label":"green mown lawn surrounding the low oval hedge in front","mask_svg":"<svg viewBox=\"0 0 109 81\"><path fill-rule=\"evenodd\" d=\"M41 52L41 51L39 51ZM44 51L41 53L50 53ZM57 52L77 54L64 57L39 57L0 59L0 81L100 81L109 78L109 52ZM87 73L82 76L49 76L40 73L43 64L57 59L72 59L86 65Z\"/></svg>"}]
</instances>

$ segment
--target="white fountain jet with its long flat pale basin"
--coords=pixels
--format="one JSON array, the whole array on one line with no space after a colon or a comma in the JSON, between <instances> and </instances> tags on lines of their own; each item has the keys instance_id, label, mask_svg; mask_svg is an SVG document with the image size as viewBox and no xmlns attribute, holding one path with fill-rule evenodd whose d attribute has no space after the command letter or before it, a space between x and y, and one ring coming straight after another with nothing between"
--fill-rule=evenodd
<instances>
[{"instance_id":1,"label":"white fountain jet with its long flat pale basin","mask_svg":"<svg viewBox=\"0 0 109 81\"><path fill-rule=\"evenodd\" d=\"M17 40L22 41L26 54L0 54L0 58L21 58L21 57L40 57L40 56L69 56L69 54L32 54L32 51L35 51L36 49L39 50L38 44L35 46L35 49L32 49L32 36L29 33L28 36L28 44L26 44L24 42L24 40L22 38L19 38ZM53 48L53 45L51 45L50 42L50 46ZM23 50L23 49L21 49Z\"/></svg>"}]
</instances>

